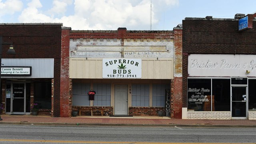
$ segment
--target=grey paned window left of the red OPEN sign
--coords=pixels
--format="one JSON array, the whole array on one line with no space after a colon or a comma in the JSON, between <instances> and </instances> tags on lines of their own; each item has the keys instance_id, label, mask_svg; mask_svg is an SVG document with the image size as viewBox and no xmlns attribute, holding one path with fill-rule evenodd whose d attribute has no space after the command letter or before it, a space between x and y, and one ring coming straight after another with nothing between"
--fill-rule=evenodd
<instances>
[{"instance_id":1,"label":"grey paned window left of the red OPEN sign","mask_svg":"<svg viewBox=\"0 0 256 144\"><path fill-rule=\"evenodd\" d=\"M90 84L73 83L73 106L90 106Z\"/></svg>"}]
</instances>

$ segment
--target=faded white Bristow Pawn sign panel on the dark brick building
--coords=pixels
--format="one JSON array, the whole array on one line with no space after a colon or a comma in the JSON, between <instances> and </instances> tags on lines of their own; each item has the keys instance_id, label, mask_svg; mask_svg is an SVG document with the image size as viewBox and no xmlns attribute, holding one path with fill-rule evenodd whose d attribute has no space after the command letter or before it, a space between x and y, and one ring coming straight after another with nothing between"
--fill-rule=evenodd
<instances>
[{"instance_id":1,"label":"faded white Bristow Pawn sign panel on the dark brick building","mask_svg":"<svg viewBox=\"0 0 256 144\"><path fill-rule=\"evenodd\" d=\"M256 76L256 55L190 54L189 76Z\"/></svg>"}]
</instances>

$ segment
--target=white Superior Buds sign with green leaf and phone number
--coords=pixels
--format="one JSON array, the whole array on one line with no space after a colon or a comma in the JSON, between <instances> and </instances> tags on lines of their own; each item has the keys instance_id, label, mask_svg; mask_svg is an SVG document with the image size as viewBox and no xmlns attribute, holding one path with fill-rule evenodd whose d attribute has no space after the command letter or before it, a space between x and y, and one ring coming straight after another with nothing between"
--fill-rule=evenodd
<instances>
[{"instance_id":1,"label":"white Superior Buds sign with green leaf and phone number","mask_svg":"<svg viewBox=\"0 0 256 144\"><path fill-rule=\"evenodd\" d=\"M141 59L103 58L102 78L141 78Z\"/></svg>"}]
</instances>

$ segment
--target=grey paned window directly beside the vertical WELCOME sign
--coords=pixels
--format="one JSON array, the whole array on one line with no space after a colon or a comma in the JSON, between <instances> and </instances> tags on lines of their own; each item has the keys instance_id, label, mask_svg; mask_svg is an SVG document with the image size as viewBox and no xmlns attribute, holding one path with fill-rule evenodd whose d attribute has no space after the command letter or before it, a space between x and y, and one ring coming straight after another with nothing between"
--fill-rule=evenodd
<instances>
[{"instance_id":1,"label":"grey paned window directly beside the vertical WELCOME sign","mask_svg":"<svg viewBox=\"0 0 256 144\"><path fill-rule=\"evenodd\" d=\"M165 106L165 90L170 89L168 84L153 84L152 106Z\"/></svg>"}]
</instances>

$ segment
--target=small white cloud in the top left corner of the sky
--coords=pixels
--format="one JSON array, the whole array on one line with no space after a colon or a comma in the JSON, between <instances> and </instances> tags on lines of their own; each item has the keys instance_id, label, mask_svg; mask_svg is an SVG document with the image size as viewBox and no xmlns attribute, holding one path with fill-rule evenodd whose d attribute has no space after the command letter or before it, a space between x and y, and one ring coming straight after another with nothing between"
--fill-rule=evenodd
<instances>
[{"instance_id":1,"label":"small white cloud in the top left corner of the sky","mask_svg":"<svg viewBox=\"0 0 256 144\"><path fill-rule=\"evenodd\" d=\"M23 3L21 0L6 0L5 2L2 2L0 0L0 16L3 15L11 15L15 12L19 12L22 10Z\"/></svg>"}]
</instances>

